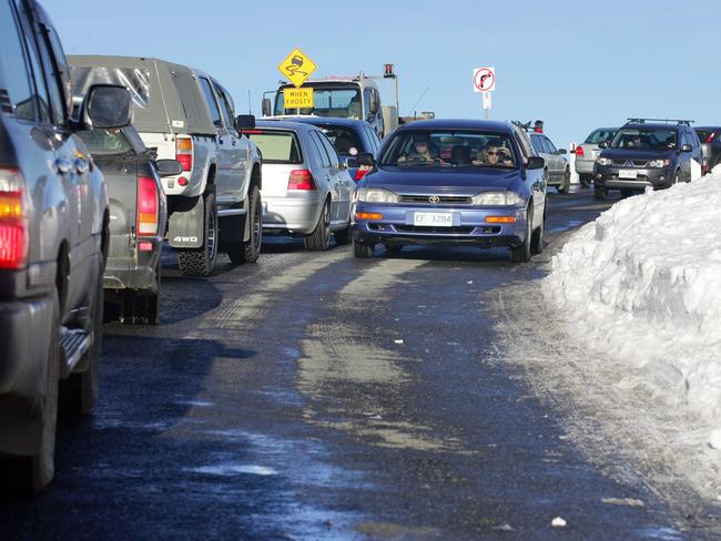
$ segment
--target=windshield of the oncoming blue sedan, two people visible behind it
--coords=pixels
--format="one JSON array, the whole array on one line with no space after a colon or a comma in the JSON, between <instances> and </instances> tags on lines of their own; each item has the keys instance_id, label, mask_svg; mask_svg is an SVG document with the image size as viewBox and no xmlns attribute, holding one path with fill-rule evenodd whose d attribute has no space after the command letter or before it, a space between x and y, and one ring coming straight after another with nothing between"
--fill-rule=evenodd
<instances>
[{"instance_id":1,"label":"windshield of the oncoming blue sedan, two people visible behind it","mask_svg":"<svg viewBox=\"0 0 721 541\"><path fill-rule=\"evenodd\" d=\"M518 159L507 133L403 130L393 135L379 165L515 169Z\"/></svg>"}]
</instances>

